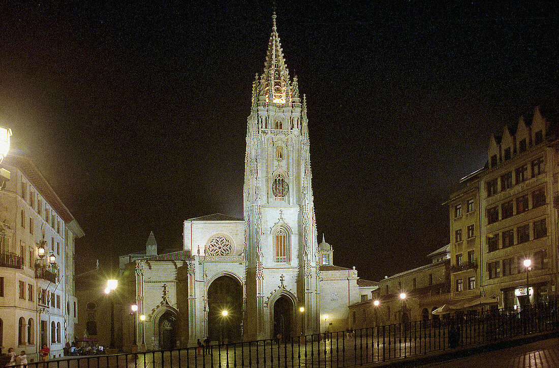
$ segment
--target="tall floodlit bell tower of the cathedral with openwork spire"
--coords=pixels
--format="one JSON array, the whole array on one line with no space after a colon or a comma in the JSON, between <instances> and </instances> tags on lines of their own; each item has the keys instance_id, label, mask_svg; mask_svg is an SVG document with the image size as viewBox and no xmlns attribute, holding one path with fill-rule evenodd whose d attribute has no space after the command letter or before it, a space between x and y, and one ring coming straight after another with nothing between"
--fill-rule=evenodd
<instances>
[{"instance_id":1,"label":"tall floodlit bell tower of the cathedral with openwork spire","mask_svg":"<svg viewBox=\"0 0 559 368\"><path fill-rule=\"evenodd\" d=\"M306 103L297 77L290 80L275 13L248 117L244 218L245 337L318 333L320 271Z\"/></svg>"}]
</instances>

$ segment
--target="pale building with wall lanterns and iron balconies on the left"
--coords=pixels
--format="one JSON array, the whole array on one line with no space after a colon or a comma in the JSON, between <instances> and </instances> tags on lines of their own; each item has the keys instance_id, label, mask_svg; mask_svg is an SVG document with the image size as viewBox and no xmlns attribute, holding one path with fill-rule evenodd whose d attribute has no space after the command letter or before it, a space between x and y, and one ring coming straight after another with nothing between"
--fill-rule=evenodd
<instances>
[{"instance_id":1,"label":"pale building with wall lanterns and iron balconies on the left","mask_svg":"<svg viewBox=\"0 0 559 368\"><path fill-rule=\"evenodd\" d=\"M75 337L74 247L84 233L29 156L10 154L3 167L11 179L0 192L0 346L36 360L47 343L60 356Z\"/></svg>"}]
</instances>

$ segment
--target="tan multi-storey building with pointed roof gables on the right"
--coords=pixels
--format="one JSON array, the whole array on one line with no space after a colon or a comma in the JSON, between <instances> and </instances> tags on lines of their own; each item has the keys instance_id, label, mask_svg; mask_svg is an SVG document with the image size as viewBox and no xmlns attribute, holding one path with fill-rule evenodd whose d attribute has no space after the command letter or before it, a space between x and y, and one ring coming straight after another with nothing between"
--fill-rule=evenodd
<instances>
[{"instance_id":1,"label":"tan multi-storey building with pointed roof gables on the right","mask_svg":"<svg viewBox=\"0 0 559 368\"><path fill-rule=\"evenodd\" d=\"M487 153L486 166L463 178L447 202L452 298L485 295L509 309L545 302L558 281L557 114L537 107L515 130L492 136ZM458 287L470 278L473 287Z\"/></svg>"}]
</instances>

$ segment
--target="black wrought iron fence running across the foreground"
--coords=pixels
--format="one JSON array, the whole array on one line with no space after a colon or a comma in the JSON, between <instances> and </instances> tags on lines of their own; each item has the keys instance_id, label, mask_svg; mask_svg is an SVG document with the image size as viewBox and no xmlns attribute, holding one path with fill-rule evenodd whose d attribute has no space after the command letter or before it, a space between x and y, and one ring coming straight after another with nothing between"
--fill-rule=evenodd
<instances>
[{"instance_id":1,"label":"black wrought iron fence running across the foreground","mask_svg":"<svg viewBox=\"0 0 559 368\"><path fill-rule=\"evenodd\" d=\"M354 331L218 344L205 348L67 357L65 360L50 361L45 367L347 367L420 357L430 352L480 346L558 329L557 303L544 303L522 311L470 312ZM28 366L42 367L41 364L34 362Z\"/></svg>"}]
</instances>

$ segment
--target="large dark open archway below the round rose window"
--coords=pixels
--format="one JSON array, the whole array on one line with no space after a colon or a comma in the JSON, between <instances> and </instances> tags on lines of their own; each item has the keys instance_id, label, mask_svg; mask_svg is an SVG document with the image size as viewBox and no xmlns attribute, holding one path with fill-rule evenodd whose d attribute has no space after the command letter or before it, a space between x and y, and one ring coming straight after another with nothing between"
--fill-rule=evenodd
<instances>
[{"instance_id":1,"label":"large dark open archway below the round rose window","mask_svg":"<svg viewBox=\"0 0 559 368\"><path fill-rule=\"evenodd\" d=\"M208 336L211 341L240 341L243 320L243 286L231 276L215 279L207 291ZM227 315L224 316L224 310Z\"/></svg>"}]
</instances>

